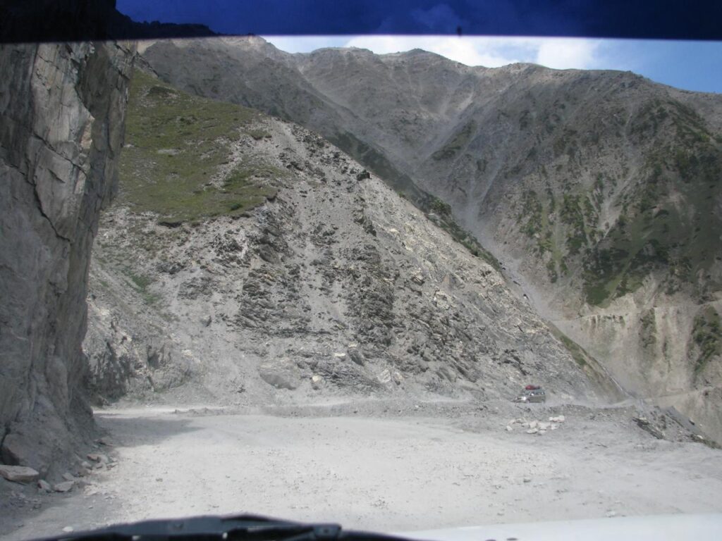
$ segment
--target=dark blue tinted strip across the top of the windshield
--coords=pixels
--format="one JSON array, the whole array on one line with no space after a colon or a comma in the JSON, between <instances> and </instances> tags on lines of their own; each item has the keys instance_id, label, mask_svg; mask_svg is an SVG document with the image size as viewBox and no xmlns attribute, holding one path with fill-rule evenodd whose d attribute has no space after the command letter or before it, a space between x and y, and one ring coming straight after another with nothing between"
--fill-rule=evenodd
<instances>
[{"instance_id":1,"label":"dark blue tinted strip across the top of the windshield","mask_svg":"<svg viewBox=\"0 0 722 541\"><path fill-rule=\"evenodd\" d=\"M718 0L118 0L137 21L258 35L455 34L722 40Z\"/></svg>"}]
</instances>

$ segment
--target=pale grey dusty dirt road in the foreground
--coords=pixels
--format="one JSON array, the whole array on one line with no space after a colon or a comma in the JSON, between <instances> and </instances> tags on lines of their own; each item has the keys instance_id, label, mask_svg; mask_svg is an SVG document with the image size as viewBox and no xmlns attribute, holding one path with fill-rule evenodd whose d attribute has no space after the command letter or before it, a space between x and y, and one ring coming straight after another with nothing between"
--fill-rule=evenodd
<instances>
[{"instance_id":1,"label":"pale grey dusty dirt road in the foreground","mask_svg":"<svg viewBox=\"0 0 722 541\"><path fill-rule=\"evenodd\" d=\"M653 439L614 410L562 410L565 422L542 436L508 431L507 412L423 407L101 411L115 467L39 496L43 509L7 517L0 539L209 513L404 531L722 511L722 452Z\"/></svg>"}]
</instances>

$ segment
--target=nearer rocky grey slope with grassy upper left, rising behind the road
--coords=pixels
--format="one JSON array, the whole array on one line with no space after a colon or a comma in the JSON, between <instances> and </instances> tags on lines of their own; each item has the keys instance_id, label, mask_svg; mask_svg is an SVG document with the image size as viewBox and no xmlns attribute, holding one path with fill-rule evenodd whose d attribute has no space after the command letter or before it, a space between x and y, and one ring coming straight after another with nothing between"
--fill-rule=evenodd
<instances>
[{"instance_id":1,"label":"nearer rocky grey slope with grassy upper left, rising behind the road","mask_svg":"<svg viewBox=\"0 0 722 541\"><path fill-rule=\"evenodd\" d=\"M614 395L495 268L323 138L138 72L126 140L91 269L97 400Z\"/></svg>"}]
</instances>

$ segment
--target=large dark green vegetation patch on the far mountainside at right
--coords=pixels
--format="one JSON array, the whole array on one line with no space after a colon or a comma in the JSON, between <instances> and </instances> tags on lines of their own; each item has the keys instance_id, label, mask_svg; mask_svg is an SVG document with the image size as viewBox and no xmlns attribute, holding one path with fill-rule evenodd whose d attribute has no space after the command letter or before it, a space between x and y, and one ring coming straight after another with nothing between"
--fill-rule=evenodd
<instances>
[{"instance_id":1,"label":"large dark green vegetation patch on the far mountainside at right","mask_svg":"<svg viewBox=\"0 0 722 541\"><path fill-rule=\"evenodd\" d=\"M722 145L700 115L674 101L643 107L632 133L650 137L663 129L671 141L648 152L619 219L585 255L584 292L591 304L635 291L653 272L667 294L687 289L700 301L720 285L708 270L721 255L716 201Z\"/></svg>"}]
</instances>

